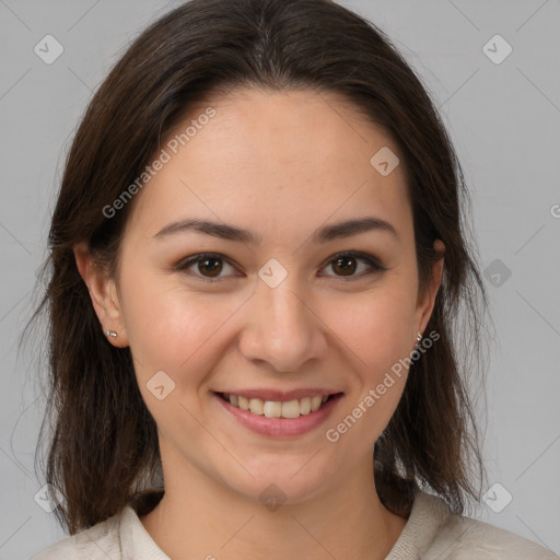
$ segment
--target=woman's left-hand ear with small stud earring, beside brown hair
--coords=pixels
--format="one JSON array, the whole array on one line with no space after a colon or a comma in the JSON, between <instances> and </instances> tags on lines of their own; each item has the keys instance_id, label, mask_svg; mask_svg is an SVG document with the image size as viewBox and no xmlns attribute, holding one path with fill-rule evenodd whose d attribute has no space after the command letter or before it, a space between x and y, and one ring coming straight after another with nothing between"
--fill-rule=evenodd
<instances>
[{"instance_id":1,"label":"woman's left-hand ear with small stud earring, beside brown hair","mask_svg":"<svg viewBox=\"0 0 560 560\"><path fill-rule=\"evenodd\" d=\"M93 308L100 319L100 328L113 346L127 347L128 336L115 280L105 267L100 267L93 261L88 243L74 245L73 252L78 270L88 285ZM117 336L108 337L107 330L117 332Z\"/></svg>"}]
</instances>

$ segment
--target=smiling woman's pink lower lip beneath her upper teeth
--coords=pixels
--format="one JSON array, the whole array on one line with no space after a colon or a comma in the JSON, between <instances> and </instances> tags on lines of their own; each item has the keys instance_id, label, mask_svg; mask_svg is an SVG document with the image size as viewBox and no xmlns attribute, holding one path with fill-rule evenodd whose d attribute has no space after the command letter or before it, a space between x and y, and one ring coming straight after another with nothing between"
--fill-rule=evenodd
<instances>
[{"instance_id":1,"label":"smiling woman's pink lower lip beneath her upper teeth","mask_svg":"<svg viewBox=\"0 0 560 560\"><path fill-rule=\"evenodd\" d=\"M266 416L254 415L248 410L242 410L238 407L234 407L231 402L228 402L215 393L214 397L230 415L253 432L275 438L290 438L311 432L320 425L328 418L332 408L342 397L342 394L339 393L338 395L335 395L318 410L310 412L308 415L301 415L298 418L267 418Z\"/></svg>"}]
</instances>

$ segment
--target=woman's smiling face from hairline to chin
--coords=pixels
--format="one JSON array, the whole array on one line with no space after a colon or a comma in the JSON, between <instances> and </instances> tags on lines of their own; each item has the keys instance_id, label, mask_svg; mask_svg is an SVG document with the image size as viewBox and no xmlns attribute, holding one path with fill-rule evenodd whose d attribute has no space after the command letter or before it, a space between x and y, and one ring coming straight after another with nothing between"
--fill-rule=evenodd
<instances>
[{"instance_id":1,"label":"woman's smiling face from hairline to chin","mask_svg":"<svg viewBox=\"0 0 560 560\"><path fill-rule=\"evenodd\" d=\"M192 119L131 202L115 282L94 290L112 343L130 346L164 476L252 499L273 482L292 502L371 476L406 368L376 388L413 350L441 272L420 300L404 166L370 162L397 147L312 92L238 90L177 133Z\"/></svg>"}]
</instances>

